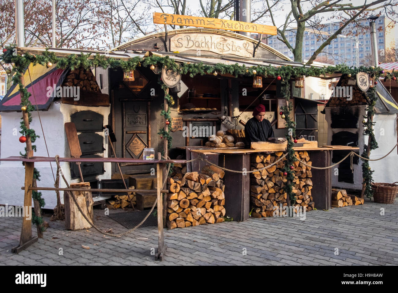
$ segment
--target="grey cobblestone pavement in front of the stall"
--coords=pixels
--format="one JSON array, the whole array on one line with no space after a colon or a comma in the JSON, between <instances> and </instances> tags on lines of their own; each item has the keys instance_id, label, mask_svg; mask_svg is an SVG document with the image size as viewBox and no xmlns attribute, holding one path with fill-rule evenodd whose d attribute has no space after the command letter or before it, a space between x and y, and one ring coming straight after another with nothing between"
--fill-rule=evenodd
<instances>
[{"instance_id":1,"label":"grey cobblestone pavement in front of the stall","mask_svg":"<svg viewBox=\"0 0 398 293\"><path fill-rule=\"evenodd\" d=\"M381 208L384 215L380 215ZM103 210L94 211L97 226L113 228L114 233L126 230ZM306 213L305 220L250 218L165 230L168 248L162 262L154 261L151 255L158 244L156 227L112 238L93 228L67 231L61 221L50 222L44 238L12 254L21 223L21 218L0 218L0 264L398 265L398 199L393 205L365 200L365 205L313 210ZM35 234L36 228L32 230ZM63 255L59 255L61 248Z\"/></svg>"}]
</instances>

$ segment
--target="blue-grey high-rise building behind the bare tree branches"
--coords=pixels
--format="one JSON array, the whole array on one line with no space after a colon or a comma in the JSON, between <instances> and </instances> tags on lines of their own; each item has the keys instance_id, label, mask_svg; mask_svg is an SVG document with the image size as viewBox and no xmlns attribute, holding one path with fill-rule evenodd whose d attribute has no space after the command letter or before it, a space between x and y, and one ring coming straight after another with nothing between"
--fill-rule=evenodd
<instances>
[{"instance_id":1,"label":"blue-grey high-rise building behind the bare tree branches","mask_svg":"<svg viewBox=\"0 0 398 293\"><path fill-rule=\"evenodd\" d=\"M324 56L325 61L327 60L329 61L328 63L332 63L334 65L346 64L347 66L356 67L361 65L370 65L372 61L372 48L369 21L363 20L361 25L364 28L368 28L365 33L355 36L355 33L357 33L355 24L348 24L341 34L333 39L317 57ZM338 22L324 24L324 28L321 29L321 32L324 33L324 39L326 39L328 35L335 33L339 27L340 23ZM383 54L384 50L387 48L395 47L394 28L388 26L388 20L385 20L385 16L380 16L376 20L376 29L377 48L379 54ZM318 29L315 31L317 30ZM324 39L318 38L320 35L320 33L314 33L312 28L308 28L304 32L302 45L303 60L308 60L316 49L319 49L320 45L324 43ZM295 47L296 31L293 29L291 31L286 31L285 37L289 41L290 45ZM263 42L293 59L292 51L288 49L285 43L277 39L277 35L268 37L264 39ZM358 47L356 47L357 42ZM358 62L359 65L357 65Z\"/></svg>"}]
</instances>

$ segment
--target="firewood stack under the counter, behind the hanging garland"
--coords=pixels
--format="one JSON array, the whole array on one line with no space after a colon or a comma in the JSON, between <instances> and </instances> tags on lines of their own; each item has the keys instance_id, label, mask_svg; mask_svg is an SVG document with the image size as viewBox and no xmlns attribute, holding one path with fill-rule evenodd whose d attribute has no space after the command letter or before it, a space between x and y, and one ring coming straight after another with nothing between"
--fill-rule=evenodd
<instances>
[{"instance_id":1,"label":"firewood stack under the counter, behind the hanging garland","mask_svg":"<svg viewBox=\"0 0 398 293\"><path fill-rule=\"evenodd\" d=\"M283 155L282 151L268 153L265 155L252 155L252 170L261 169L277 161ZM297 159L305 161L307 165L312 165L307 151L295 151ZM273 212L279 214L279 207L287 205L287 193L284 187L287 183L287 176L283 175L284 160L277 164L256 171L250 174L251 183L251 216L255 218L273 216ZM305 166L299 161L293 163L295 169L295 180L293 181L293 193L295 193L296 203L294 206L303 206L306 211L314 209L312 201L312 173L311 167ZM277 207L277 208L275 208Z\"/></svg>"}]
</instances>

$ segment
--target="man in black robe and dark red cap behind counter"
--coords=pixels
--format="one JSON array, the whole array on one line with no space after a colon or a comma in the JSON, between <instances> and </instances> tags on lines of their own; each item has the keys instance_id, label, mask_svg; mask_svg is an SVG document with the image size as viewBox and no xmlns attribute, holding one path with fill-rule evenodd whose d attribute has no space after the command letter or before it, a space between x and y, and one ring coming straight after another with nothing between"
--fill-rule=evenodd
<instances>
[{"instance_id":1,"label":"man in black robe and dark red cap behind counter","mask_svg":"<svg viewBox=\"0 0 398 293\"><path fill-rule=\"evenodd\" d=\"M262 104L256 106L253 116L245 125L245 136L249 144L252 142L265 142L267 138L273 138L274 133L271 122L265 119L265 106Z\"/></svg>"}]
</instances>

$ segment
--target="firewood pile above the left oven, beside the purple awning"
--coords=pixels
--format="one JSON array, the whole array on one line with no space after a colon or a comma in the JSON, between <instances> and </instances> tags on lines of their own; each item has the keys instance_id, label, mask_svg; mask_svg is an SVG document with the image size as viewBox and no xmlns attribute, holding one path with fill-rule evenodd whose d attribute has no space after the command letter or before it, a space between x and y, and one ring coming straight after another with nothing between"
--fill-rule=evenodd
<instances>
[{"instance_id":1,"label":"firewood pile above the left oven, beside the purple awning","mask_svg":"<svg viewBox=\"0 0 398 293\"><path fill-rule=\"evenodd\" d=\"M96 77L90 69L84 69L83 67L76 68L69 71L66 75L62 87L80 87L80 90L88 90L90 92L101 92L98 87Z\"/></svg>"}]
</instances>

